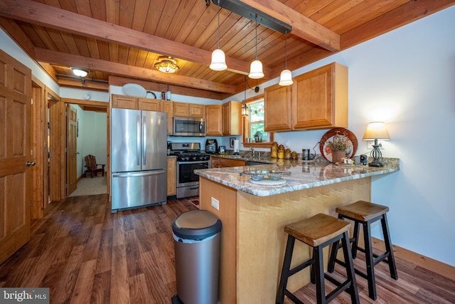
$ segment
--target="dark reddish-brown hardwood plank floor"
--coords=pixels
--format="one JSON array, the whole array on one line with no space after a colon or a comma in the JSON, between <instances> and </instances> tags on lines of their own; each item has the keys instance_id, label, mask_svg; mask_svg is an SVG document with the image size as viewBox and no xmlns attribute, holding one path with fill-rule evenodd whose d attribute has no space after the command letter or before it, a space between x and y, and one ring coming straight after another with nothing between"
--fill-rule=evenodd
<instances>
[{"instance_id":1,"label":"dark reddish-brown hardwood plank floor","mask_svg":"<svg viewBox=\"0 0 455 304\"><path fill-rule=\"evenodd\" d=\"M111 214L107 194L54 202L33 224L31 241L0 265L0 287L47 287L53 304L171 303L176 294L171 223L196 209L190 200L117 214ZM361 256L355 261L359 268ZM357 276L360 303L455 303L455 281L449 278L401 258L398 281L385 264L375 269L378 300L368 298L366 281ZM311 284L297 295L316 302ZM333 303L350 303L348 294Z\"/></svg>"}]
</instances>

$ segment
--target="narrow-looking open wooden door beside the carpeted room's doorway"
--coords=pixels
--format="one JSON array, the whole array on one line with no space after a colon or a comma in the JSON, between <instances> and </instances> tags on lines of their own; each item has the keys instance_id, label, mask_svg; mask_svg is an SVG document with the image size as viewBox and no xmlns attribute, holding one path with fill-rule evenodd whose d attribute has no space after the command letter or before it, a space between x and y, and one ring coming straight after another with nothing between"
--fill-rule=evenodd
<instances>
[{"instance_id":1,"label":"narrow-looking open wooden door beside the carpeted room's doorway","mask_svg":"<svg viewBox=\"0 0 455 304\"><path fill-rule=\"evenodd\" d=\"M77 188L77 109L66 105L66 195Z\"/></svg>"}]
</instances>

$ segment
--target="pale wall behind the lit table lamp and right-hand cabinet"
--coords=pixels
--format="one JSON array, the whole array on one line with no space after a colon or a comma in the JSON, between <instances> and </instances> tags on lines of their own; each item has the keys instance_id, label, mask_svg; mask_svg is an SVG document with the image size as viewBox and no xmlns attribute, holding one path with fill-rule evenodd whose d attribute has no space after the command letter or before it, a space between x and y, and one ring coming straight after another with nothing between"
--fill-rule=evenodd
<instances>
[{"instance_id":1,"label":"pale wall behind the lit table lamp and right-hand cabinet","mask_svg":"<svg viewBox=\"0 0 455 304\"><path fill-rule=\"evenodd\" d=\"M455 266L454 20L452 6L293 71L296 76L333 61L348 66L348 128L359 140L356 154L368 152L361 141L368 122L381 120L391 137L383 156L401 159L400 172L375 178L372 186L372 201L390 207L392 242L451 266ZM261 85L261 92L277 82ZM326 131L280 132L275 139L282 144L289 140L291 149L300 152L314 147ZM378 228L374 235L382 239Z\"/></svg>"}]
</instances>

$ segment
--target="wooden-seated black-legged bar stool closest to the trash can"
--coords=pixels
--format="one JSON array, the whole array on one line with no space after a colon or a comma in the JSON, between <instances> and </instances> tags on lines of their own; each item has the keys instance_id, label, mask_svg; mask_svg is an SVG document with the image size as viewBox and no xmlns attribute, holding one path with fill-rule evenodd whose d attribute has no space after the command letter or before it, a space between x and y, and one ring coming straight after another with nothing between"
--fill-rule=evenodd
<instances>
[{"instance_id":1,"label":"wooden-seated black-legged bar stool closest to the trash can","mask_svg":"<svg viewBox=\"0 0 455 304\"><path fill-rule=\"evenodd\" d=\"M289 235L284 253L282 275L279 279L277 303L284 303L284 295L287 295L294 303L302 304L301 300L296 298L286 287L290 276L308 266L311 266L311 283L316 283L316 298L318 303L328 303L345 290L350 293L352 303L359 303L354 266L349 247L349 226L350 224L347 221L342 221L326 214L316 214L309 219L298 221L284 227L284 231ZM292 251L294 251L296 239L311 246L313 248L313 256L308 261L304 261L304 263L291 269ZM348 261L346 265L348 278L343 283L328 276L324 273L323 269L322 249L331 243L338 243L339 240L342 243L344 258ZM326 295L324 278L337 285L336 289L328 295Z\"/></svg>"}]
</instances>

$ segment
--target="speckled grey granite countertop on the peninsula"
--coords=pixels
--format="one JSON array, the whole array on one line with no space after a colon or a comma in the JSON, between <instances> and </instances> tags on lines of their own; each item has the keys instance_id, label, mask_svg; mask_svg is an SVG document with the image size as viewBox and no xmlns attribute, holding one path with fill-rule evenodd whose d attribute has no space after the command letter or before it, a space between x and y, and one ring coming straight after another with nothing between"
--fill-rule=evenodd
<instances>
[{"instance_id":1,"label":"speckled grey granite countertop on the peninsula","mask_svg":"<svg viewBox=\"0 0 455 304\"><path fill-rule=\"evenodd\" d=\"M226 155L225 157L234 158L232 155ZM238 159L246 160L247 157L240 157ZM196 169L194 172L200 177L205 177L214 182L218 182L242 192L247 192L256 196L270 196L274 194L294 192L301 189L320 187L326 184L335 184L351 179L361 179L363 177L387 174L396 172L400 169L399 159L384 160L385 161L383 162L385 163L385 167L378 168L368 167L361 164L331 164L330 162L326 162L324 160L305 162L302 160L281 159L280 161L282 162L273 162L270 159L261 159L261 162L267 161L270 163L260 164L257 166ZM279 185L253 184L250 182L250 176L241 175L244 174L244 172L255 170L276 170L286 172L286 174L282 177L282 179L286 180L286 182Z\"/></svg>"}]
</instances>

